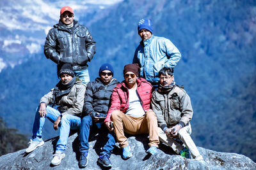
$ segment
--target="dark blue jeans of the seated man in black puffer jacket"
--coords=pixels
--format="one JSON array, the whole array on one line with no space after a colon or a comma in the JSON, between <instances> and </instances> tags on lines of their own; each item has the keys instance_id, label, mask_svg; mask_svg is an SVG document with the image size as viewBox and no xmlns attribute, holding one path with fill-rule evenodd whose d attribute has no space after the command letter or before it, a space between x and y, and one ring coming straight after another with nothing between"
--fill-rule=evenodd
<instances>
[{"instance_id":1,"label":"dark blue jeans of the seated man in black puffer jacket","mask_svg":"<svg viewBox=\"0 0 256 170\"><path fill-rule=\"evenodd\" d=\"M100 140L108 139L106 144L102 148L102 152L100 154L107 154L108 156L111 155L113 149L115 148L115 137L114 132L109 132L108 128L105 126L104 123L94 123L92 117L87 115L83 117L81 126L80 126L80 134L79 134L79 151L81 153L89 151L89 134L90 129L96 129L99 132Z\"/></svg>"}]
</instances>

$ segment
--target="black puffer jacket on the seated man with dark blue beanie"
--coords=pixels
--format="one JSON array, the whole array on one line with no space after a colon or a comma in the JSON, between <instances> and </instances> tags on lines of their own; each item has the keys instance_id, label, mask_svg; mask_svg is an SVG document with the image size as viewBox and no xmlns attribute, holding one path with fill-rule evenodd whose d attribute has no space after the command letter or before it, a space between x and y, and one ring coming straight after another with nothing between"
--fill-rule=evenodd
<instances>
[{"instance_id":1,"label":"black puffer jacket on the seated man with dark blue beanie","mask_svg":"<svg viewBox=\"0 0 256 170\"><path fill-rule=\"evenodd\" d=\"M108 85L104 85L100 78L89 82L84 94L83 115L89 115L92 111L107 114L111 94L118 83L115 78Z\"/></svg>"}]
</instances>

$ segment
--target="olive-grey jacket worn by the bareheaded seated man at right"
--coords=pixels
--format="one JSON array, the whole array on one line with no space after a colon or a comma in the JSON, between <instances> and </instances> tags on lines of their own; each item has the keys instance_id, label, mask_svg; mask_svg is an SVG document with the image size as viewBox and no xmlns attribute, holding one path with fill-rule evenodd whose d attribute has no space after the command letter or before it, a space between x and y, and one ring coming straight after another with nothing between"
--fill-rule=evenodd
<instances>
[{"instance_id":1,"label":"olive-grey jacket worn by the bareheaded seated man at right","mask_svg":"<svg viewBox=\"0 0 256 170\"><path fill-rule=\"evenodd\" d=\"M170 92L154 91L151 98L152 109L156 113L161 129L180 124L188 125L193 117L190 97L186 91L175 85Z\"/></svg>"}]
</instances>

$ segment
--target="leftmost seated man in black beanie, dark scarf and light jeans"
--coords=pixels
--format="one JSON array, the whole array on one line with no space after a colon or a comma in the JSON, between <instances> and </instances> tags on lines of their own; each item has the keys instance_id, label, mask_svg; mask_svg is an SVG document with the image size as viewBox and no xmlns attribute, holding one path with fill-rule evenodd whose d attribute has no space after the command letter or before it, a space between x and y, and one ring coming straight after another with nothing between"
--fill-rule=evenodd
<instances>
[{"instance_id":1,"label":"leftmost seated man in black beanie, dark scarf and light jeans","mask_svg":"<svg viewBox=\"0 0 256 170\"><path fill-rule=\"evenodd\" d=\"M81 113L83 111L85 85L76 78L71 64L63 64L60 69L60 78L56 87L45 94L40 100L40 106L36 109L33 125L33 136L26 149L26 153L32 152L38 146L44 145L42 129L45 117L54 123L54 130L60 127L60 139L56 144L56 152L51 164L58 166L65 157L65 150L70 129L79 129ZM48 106L60 105L58 110Z\"/></svg>"}]
</instances>

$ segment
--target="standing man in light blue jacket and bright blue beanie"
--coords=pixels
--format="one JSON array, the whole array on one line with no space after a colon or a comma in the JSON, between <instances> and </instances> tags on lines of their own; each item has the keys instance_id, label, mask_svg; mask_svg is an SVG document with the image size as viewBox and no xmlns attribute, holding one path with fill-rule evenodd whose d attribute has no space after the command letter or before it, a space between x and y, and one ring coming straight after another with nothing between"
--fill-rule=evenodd
<instances>
[{"instance_id":1,"label":"standing man in light blue jacket and bright blue beanie","mask_svg":"<svg viewBox=\"0 0 256 170\"><path fill-rule=\"evenodd\" d=\"M135 50L132 63L139 64L140 76L156 88L159 81L159 70L164 66L175 67L181 55L169 39L153 35L152 22L148 19L140 20L138 34L141 41Z\"/></svg>"}]
</instances>

